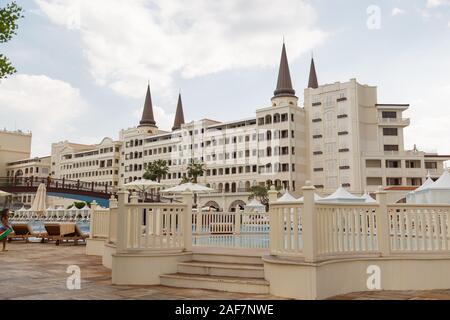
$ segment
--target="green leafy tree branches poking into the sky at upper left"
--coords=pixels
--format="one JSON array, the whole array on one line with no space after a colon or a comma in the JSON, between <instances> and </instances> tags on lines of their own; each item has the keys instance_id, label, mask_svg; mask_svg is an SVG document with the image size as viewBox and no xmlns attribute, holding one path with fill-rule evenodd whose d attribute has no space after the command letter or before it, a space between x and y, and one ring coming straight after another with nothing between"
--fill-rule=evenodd
<instances>
[{"instance_id":1,"label":"green leafy tree branches poking into the sky at upper left","mask_svg":"<svg viewBox=\"0 0 450 320\"><path fill-rule=\"evenodd\" d=\"M8 42L17 34L18 20L23 18L23 9L15 1L0 8L0 43ZM9 59L0 54L0 80L16 73Z\"/></svg>"}]
</instances>

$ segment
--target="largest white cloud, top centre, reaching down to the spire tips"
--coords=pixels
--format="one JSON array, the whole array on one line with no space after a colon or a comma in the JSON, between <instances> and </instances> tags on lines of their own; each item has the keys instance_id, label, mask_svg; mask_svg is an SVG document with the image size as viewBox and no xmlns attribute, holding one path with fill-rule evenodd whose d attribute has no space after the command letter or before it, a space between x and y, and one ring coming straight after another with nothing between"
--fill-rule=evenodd
<instances>
[{"instance_id":1,"label":"largest white cloud, top centre, reaching down to the spire tips","mask_svg":"<svg viewBox=\"0 0 450 320\"><path fill-rule=\"evenodd\" d=\"M97 83L136 98L147 80L167 95L178 76L274 66L283 35L291 60L326 37L303 0L35 2L53 23L72 30L70 21L80 13L79 32Z\"/></svg>"}]
</instances>

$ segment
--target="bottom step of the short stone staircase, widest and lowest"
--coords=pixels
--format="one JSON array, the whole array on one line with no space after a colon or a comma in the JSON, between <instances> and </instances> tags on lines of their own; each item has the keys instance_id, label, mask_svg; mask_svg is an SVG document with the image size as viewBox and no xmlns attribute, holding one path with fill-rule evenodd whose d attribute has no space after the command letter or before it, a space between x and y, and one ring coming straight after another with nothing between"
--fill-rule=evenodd
<instances>
[{"instance_id":1,"label":"bottom step of the short stone staircase, widest and lowest","mask_svg":"<svg viewBox=\"0 0 450 320\"><path fill-rule=\"evenodd\" d=\"M225 292L268 294L269 283L264 279L218 277L174 273L160 276L161 285L176 288L206 289Z\"/></svg>"}]
</instances>

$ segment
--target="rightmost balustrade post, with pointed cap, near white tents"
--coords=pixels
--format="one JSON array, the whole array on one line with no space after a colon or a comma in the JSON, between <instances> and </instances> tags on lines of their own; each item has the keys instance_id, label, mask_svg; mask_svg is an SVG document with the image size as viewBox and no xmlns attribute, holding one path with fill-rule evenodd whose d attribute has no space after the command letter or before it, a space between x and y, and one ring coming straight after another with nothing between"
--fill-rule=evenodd
<instances>
[{"instance_id":1,"label":"rightmost balustrade post, with pointed cap, near white tents","mask_svg":"<svg viewBox=\"0 0 450 320\"><path fill-rule=\"evenodd\" d=\"M378 250L380 250L381 255L384 257L390 255L387 192L383 190L383 187L380 187L380 189L375 194L378 202L378 208L376 211Z\"/></svg>"}]
</instances>

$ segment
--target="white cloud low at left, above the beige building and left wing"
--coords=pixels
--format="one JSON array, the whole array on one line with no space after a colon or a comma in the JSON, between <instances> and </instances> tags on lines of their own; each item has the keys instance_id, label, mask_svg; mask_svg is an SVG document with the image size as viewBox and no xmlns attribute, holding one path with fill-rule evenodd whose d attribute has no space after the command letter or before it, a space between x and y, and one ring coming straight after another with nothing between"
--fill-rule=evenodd
<instances>
[{"instance_id":1,"label":"white cloud low at left, above the beige building and left wing","mask_svg":"<svg viewBox=\"0 0 450 320\"><path fill-rule=\"evenodd\" d=\"M33 132L33 154L49 154L49 141L79 129L87 104L78 89L44 75L18 74L0 84L0 125Z\"/></svg>"}]
</instances>

